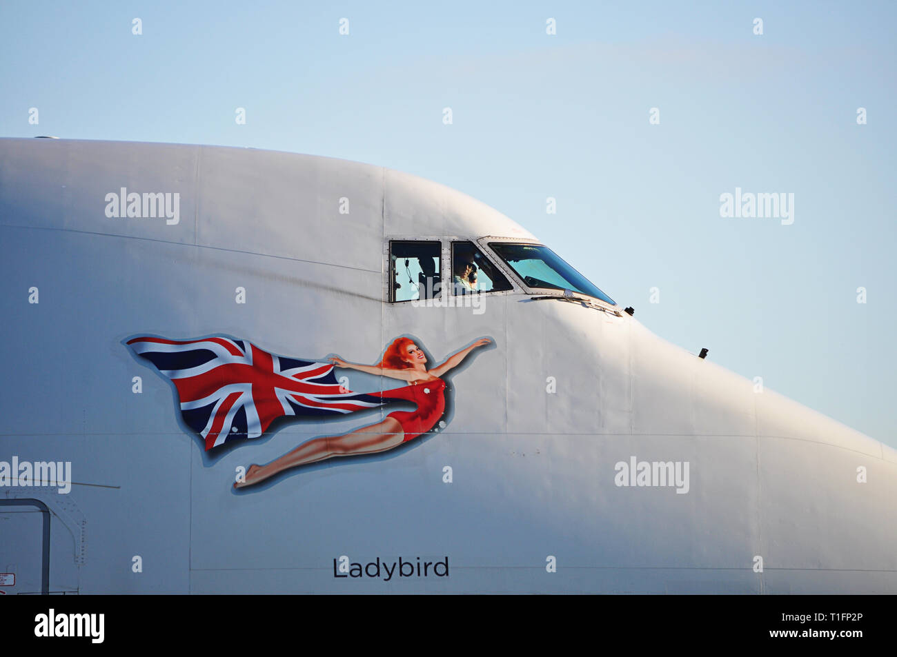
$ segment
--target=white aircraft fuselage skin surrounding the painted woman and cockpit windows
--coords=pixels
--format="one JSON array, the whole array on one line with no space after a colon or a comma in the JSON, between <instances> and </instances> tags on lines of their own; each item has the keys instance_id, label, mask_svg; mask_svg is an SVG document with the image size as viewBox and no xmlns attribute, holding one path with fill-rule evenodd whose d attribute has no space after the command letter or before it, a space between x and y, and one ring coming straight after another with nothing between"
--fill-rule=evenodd
<instances>
[{"instance_id":1,"label":"white aircraft fuselage skin surrounding the painted woman and cockpit windows","mask_svg":"<svg viewBox=\"0 0 897 657\"><path fill-rule=\"evenodd\" d=\"M179 223L106 217L105 195L121 186L179 191ZM73 532L54 524L51 590L897 592L892 448L758 392L628 315L520 290L478 307L449 290L430 307L385 301L389 238L447 248L489 235L532 238L466 195L370 165L0 140L0 313L14 318L2 344L15 373L0 391L0 462L71 462L75 482L65 495L4 487L0 497L65 502L86 521L83 561ZM399 336L431 366L492 344L442 377L435 431L237 491L250 463L413 407L292 419L206 452L173 384L126 347L146 335L225 335L366 365ZM404 385L335 376L360 393ZM670 479L640 485L623 476L632 462ZM0 534L0 564L26 568L29 541ZM448 558L450 575L343 577L343 556L415 570L418 558L431 568Z\"/></svg>"}]
</instances>

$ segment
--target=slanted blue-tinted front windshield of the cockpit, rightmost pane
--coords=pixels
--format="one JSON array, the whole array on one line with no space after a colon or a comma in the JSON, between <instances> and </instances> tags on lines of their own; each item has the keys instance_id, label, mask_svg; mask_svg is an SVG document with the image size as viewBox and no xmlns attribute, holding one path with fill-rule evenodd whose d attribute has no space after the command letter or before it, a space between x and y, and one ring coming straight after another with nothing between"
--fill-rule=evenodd
<instances>
[{"instance_id":1,"label":"slanted blue-tinted front windshield of the cockpit, rightmost pane","mask_svg":"<svg viewBox=\"0 0 897 657\"><path fill-rule=\"evenodd\" d=\"M527 287L572 290L616 305L614 299L598 290L547 246L490 242L489 247L523 279Z\"/></svg>"}]
</instances>

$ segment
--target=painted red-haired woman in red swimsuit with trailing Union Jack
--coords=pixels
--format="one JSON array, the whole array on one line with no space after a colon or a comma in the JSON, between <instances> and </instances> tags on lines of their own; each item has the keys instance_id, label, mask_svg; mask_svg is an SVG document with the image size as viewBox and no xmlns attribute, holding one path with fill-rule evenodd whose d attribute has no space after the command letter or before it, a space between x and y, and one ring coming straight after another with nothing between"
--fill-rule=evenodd
<instances>
[{"instance_id":1,"label":"painted red-haired woman in red swimsuit with trailing Union Jack","mask_svg":"<svg viewBox=\"0 0 897 657\"><path fill-rule=\"evenodd\" d=\"M170 340L142 335L126 346L174 387L185 427L212 450L235 440L262 437L276 419L370 411L405 402L414 411L393 411L384 419L341 436L312 438L266 465L252 465L235 488L252 486L291 468L334 456L375 454L430 432L446 408L442 378L489 338L474 341L428 369L427 357L408 337L392 341L377 365L276 356L246 340L213 335ZM335 367L404 381L397 388L355 393L336 380Z\"/></svg>"}]
</instances>

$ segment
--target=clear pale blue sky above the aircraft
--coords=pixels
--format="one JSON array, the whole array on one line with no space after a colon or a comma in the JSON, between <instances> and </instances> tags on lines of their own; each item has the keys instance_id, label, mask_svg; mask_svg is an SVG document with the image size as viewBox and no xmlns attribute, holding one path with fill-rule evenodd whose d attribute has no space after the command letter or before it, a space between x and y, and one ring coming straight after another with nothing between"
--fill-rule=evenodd
<instances>
[{"instance_id":1,"label":"clear pale blue sky above the aircraft","mask_svg":"<svg viewBox=\"0 0 897 657\"><path fill-rule=\"evenodd\" d=\"M7 0L0 135L431 178L517 220L658 335L897 446L895 20L887 2ZM793 193L794 223L720 217L736 187Z\"/></svg>"}]
</instances>

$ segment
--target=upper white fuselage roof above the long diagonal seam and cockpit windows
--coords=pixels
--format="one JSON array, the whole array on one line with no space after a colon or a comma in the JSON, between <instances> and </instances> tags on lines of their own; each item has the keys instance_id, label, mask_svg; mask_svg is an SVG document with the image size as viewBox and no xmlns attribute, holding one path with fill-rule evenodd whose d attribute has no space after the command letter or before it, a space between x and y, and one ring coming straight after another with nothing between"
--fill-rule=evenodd
<instances>
[{"instance_id":1,"label":"upper white fuselage roof above the long diagonal seam and cockpit windows","mask_svg":"<svg viewBox=\"0 0 897 657\"><path fill-rule=\"evenodd\" d=\"M354 250L354 245L382 238L384 230L414 236L426 225L438 229L433 233L438 235L485 231L483 235L533 238L500 212L446 186L348 160L180 144L3 142L0 188L6 206L15 209L0 218L6 225L239 247L314 262L322 255L321 245L333 243L339 247L326 252L332 255L331 264L376 272L378 254ZM110 187L111 181L117 186ZM121 187L139 195L161 190L179 194L178 222L109 221L95 212L98 198ZM36 198L41 212L33 203ZM343 198L347 205L340 203ZM259 221L264 231L258 230ZM350 230L359 239L345 240Z\"/></svg>"}]
</instances>

